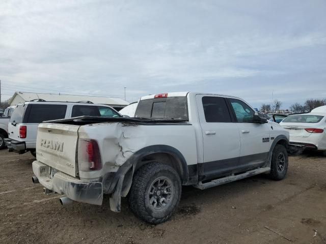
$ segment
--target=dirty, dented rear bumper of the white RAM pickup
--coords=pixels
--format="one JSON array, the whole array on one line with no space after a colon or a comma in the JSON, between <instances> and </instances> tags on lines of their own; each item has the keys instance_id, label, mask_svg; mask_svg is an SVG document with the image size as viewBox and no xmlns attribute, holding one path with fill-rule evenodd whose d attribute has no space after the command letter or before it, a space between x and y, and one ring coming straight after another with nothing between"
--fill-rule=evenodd
<instances>
[{"instance_id":1,"label":"dirty, dented rear bumper of the white RAM pickup","mask_svg":"<svg viewBox=\"0 0 326 244\"><path fill-rule=\"evenodd\" d=\"M57 172L51 178L50 167L39 161L33 162L33 172L40 184L53 192L77 202L102 205L102 182L79 180L63 172Z\"/></svg>"}]
</instances>

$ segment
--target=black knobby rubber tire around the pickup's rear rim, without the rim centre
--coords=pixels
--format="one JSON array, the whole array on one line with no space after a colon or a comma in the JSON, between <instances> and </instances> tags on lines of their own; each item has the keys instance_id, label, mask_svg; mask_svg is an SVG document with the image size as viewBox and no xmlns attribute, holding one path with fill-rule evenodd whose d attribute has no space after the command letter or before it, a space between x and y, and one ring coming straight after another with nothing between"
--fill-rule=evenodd
<instances>
[{"instance_id":1,"label":"black knobby rubber tire around the pickup's rear rim, without the rim centre","mask_svg":"<svg viewBox=\"0 0 326 244\"><path fill-rule=\"evenodd\" d=\"M150 205L149 191L157 178L164 177L170 180L173 187L172 197L164 209L154 210ZM142 166L133 176L129 193L129 207L133 214L150 224L159 224L167 221L177 208L181 197L181 179L172 167L159 163L148 163Z\"/></svg>"}]
</instances>

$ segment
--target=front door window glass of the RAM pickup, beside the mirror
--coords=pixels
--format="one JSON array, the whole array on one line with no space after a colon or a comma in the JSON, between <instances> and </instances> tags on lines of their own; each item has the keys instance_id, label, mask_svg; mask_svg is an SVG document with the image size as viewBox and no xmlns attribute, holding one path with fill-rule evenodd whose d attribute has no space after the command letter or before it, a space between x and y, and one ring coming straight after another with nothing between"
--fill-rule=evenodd
<instances>
[{"instance_id":1,"label":"front door window glass of the RAM pickup, beside the mirror","mask_svg":"<svg viewBox=\"0 0 326 244\"><path fill-rule=\"evenodd\" d=\"M253 123L255 111L238 99L229 99L238 123Z\"/></svg>"}]
</instances>

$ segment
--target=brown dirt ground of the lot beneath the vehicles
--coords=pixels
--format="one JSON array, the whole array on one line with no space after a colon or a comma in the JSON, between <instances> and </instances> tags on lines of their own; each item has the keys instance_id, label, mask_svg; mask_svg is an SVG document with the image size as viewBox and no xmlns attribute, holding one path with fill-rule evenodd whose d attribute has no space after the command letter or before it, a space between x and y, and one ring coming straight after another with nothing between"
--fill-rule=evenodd
<instances>
[{"instance_id":1,"label":"brown dirt ground of the lot beneath the vehicles","mask_svg":"<svg viewBox=\"0 0 326 244\"><path fill-rule=\"evenodd\" d=\"M0 243L326 243L326 157L317 153L290 157L282 181L183 187L175 215L156 226L135 218L126 199L120 213L107 197L102 206L62 207L58 194L32 183L33 160L0 151Z\"/></svg>"}]
</instances>

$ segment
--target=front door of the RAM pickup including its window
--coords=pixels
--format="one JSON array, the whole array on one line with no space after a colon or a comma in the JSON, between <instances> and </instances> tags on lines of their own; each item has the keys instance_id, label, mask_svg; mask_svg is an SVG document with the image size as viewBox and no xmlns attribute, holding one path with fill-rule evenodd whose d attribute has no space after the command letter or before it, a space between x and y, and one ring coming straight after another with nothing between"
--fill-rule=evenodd
<instances>
[{"instance_id":1,"label":"front door of the RAM pickup including its window","mask_svg":"<svg viewBox=\"0 0 326 244\"><path fill-rule=\"evenodd\" d=\"M236 118L241 149L239 165L243 168L263 165L270 148L270 125L253 122L255 111L239 99L228 99Z\"/></svg>"}]
</instances>

